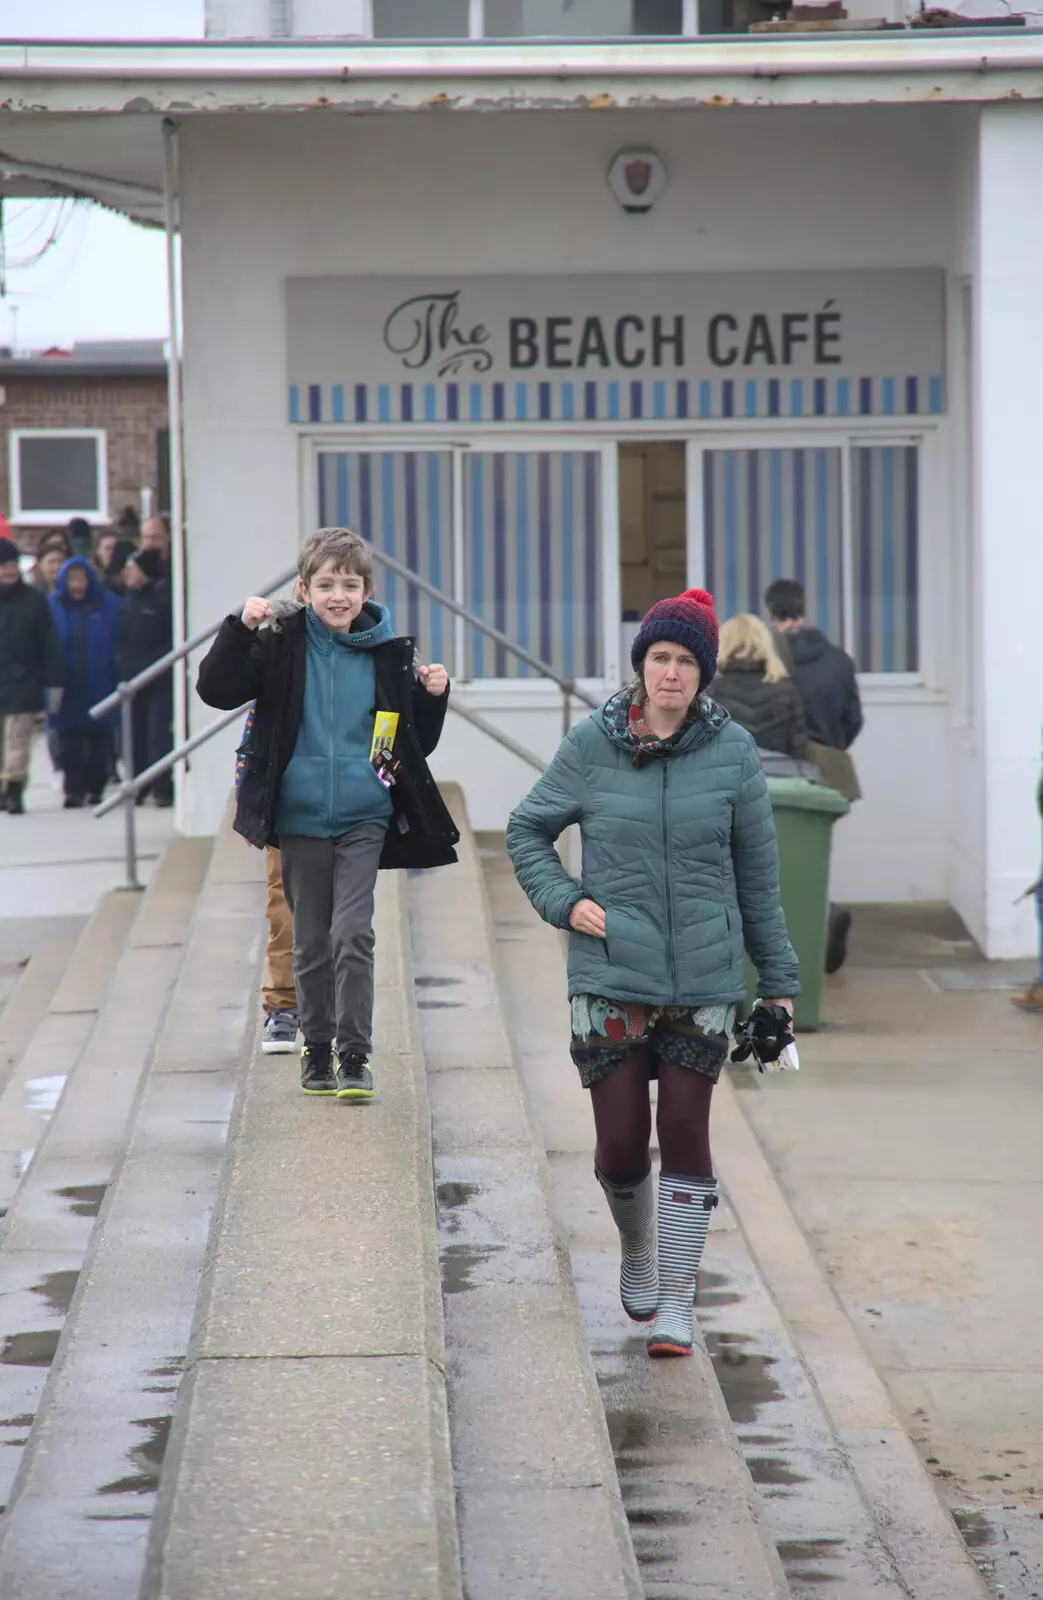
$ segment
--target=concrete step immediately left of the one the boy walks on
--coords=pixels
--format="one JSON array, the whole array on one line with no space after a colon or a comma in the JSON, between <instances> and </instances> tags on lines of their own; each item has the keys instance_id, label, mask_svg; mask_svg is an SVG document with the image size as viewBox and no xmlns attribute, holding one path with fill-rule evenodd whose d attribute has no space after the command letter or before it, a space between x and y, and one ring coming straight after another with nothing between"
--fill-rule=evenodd
<instances>
[{"instance_id":1,"label":"concrete step immediately left of the one the boy walks on","mask_svg":"<svg viewBox=\"0 0 1043 1600\"><path fill-rule=\"evenodd\" d=\"M142 1586L264 934L261 858L227 829L213 853L192 845L184 958L16 1483L0 1595L131 1600ZM174 902L150 926L173 939Z\"/></svg>"}]
</instances>

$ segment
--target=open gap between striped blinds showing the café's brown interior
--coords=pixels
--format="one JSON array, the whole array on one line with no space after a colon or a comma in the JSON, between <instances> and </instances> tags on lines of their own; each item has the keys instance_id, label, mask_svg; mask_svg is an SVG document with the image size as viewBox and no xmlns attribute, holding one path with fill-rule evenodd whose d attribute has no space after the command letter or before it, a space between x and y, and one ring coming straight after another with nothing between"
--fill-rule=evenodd
<instances>
[{"instance_id":1,"label":"open gap between striped blinds showing the caf\u00e9's brown interior","mask_svg":"<svg viewBox=\"0 0 1043 1600\"><path fill-rule=\"evenodd\" d=\"M680 438L619 445L619 598L622 662L656 600L686 587L686 448Z\"/></svg>"}]
</instances>

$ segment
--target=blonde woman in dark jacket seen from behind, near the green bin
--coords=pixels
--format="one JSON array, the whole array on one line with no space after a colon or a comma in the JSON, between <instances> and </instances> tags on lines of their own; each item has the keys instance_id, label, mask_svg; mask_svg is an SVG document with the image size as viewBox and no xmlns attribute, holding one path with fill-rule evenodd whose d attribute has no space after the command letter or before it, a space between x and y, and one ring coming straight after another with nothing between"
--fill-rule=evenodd
<instances>
[{"instance_id":1,"label":"blonde woman in dark jacket seen from behind, near the green bin","mask_svg":"<svg viewBox=\"0 0 1043 1600\"><path fill-rule=\"evenodd\" d=\"M721 627L713 699L761 750L777 750L803 762L808 725L797 685L779 661L768 627L742 611Z\"/></svg>"}]
</instances>

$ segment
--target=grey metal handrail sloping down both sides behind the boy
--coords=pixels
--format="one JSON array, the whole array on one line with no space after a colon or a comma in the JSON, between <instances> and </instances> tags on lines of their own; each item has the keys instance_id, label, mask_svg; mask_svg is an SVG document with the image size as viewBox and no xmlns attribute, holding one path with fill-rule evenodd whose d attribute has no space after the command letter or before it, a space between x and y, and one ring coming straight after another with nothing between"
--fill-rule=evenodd
<instances>
[{"instance_id":1,"label":"grey metal handrail sloping down both sides behind the boy","mask_svg":"<svg viewBox=\"0 0 1043 1600\"><path fill-rule=\"evenodd\" d=\"M427 582L427 579L421 578L419 573L410 571L408 566L403 566L402 562L397 562L392 555L387 555L384 550L374 549L371 550L371 554L373 558L379 562L382 566L386 566L390 573L395 573L395 576L405 579L405 582L413 584L414 589L419 589L421 594L429 595L429 598L445 606L446 611L451 611L454 616L462 618L466 622L470 624L470 627L477 629L480 634L485 634L496 645L499 645L501 650L507 650L510 651L510 654L517 656L518 661L525 662L526 667L531 667L533 672L536 672L539 677L549 678L552 683L557 683L557 686L561 690L561 718L565 733L569 731L573 722L573 706L571 706L573 698L582 701L592 710L597 710L600 707L601 704L600 699L590 694L589 690L582 688L576 682L576 678L569 678L560 672L555 672L553 667L547 666L545 661L541 661L539 656L534 656L529 650L525 648L525 645L518 645L507 634L501 632L498 627L493 627L491 622L486 622L485 618L477 616L467 606L461 605L459 600L453 600L435 584ZM266 598L269 595L274 595L278 589L285 589L286 584L293 582L296 576L298 570L296 566L291 566L280 578L270 582L267 589L259 590L261 597ZM154 661L152 666L146 667L142 672L138 672L133 678L128 678L126 683L118 683L112 694L107 694L102 701L98 701L96 706L91 706L90 715L94 720L107 715L107 712L114 710L117 706L120 707L120 741L122 741L125 765L133 766L133 755L134 755L133 704L136 696L141 693L141 690L147 688L149 683L155 683L155 680L162 678L165 672L170 672L170 669L174 667L179 661L184 661L186 656L192 654L194 650L198 650L202 645L206 645L219 630L222 621L224 618L221 618L211 627L206 627L198 634L194 634L192 638L187 638L184 642L184 645L178 645L174 650L168 650L166 654L160 656L158 661ZM501 728L488 722L478 712L470 710L470 707L466 706L458 706L453 701L450 701L450 710L454 712L458 717L462 717L464 722L469 722L472 728L478 728L482 733L488 734L499 746L502 746L502 749L510 750L510 754L517 755L518 760L526 762L529 766L534 766L541 773L545 771L545 762L541 760L539 755L534 755L533 750L526 749L523 744L518 744L517 739L512 739L510 734L504 733ZM109 795L107 800L102 800L101 805L94 806L94 816L99 818L107 816L109 811L115 811L118 805L123 806L128 888L134 890L141 888L138 882L138 842L134 827L136 824L134 805L139 792L154 784L157 778L162 778L165 773L170 773L179 762L184 762L189 755L192 755L194 750L198 750L202 744L206 744L210 739L213 739L214 734L227 728L229 723L235 722L238 717L242 717L242 714L243 707L237 706L235 710L229 710L222 717L218 717L214 722L208 723L206 728L202 728L198 733L194 733L192 738L184 739L176 749L168 750L166 755L160 757L158 762L154 762L152 766L147 766L142 773L133 773L130 778L125 778L120 787L115 790L115 794Z\"/></svg>"}]
</instances>

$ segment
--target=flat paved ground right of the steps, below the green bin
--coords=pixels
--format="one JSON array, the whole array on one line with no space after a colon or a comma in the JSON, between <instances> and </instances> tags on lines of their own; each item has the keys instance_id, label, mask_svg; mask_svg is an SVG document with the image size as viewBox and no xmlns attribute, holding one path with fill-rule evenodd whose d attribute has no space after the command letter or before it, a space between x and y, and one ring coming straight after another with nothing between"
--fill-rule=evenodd
<instances>
[{"instance_id":1,"label":"flat paved ground right of the steps, below the green bin","mask_svg":"<svg viewBox=\"0 0 1043 1600\"><path fill-rule=\"evenodd\" d=\"M949 912L859 910L801 1074L734 1072L997 1594L1043 1595L1043 1016Z\"/></svg>"}]
</instances>

